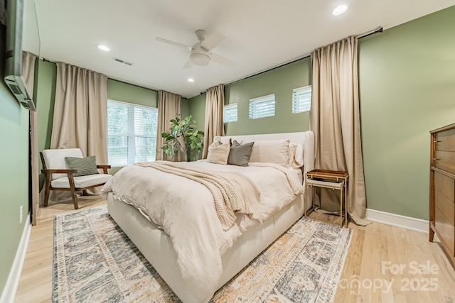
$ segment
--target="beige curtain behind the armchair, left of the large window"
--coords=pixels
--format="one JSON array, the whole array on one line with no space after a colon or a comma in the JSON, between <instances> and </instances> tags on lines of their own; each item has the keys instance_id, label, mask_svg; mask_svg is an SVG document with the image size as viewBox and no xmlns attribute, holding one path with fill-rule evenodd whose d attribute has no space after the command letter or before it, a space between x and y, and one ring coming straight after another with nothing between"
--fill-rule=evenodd
<instances>
[{"instance_id":1,"label":"beige curtain behind the armchair, left of the large window","mask_svg":"<svg viewBox=\"0 0 455 303\"><path fill-rule=\"evenodd\" d=\"M57 62L50 148L80 148L107 164L107 77Z\"/></svg>"}]
</instances>

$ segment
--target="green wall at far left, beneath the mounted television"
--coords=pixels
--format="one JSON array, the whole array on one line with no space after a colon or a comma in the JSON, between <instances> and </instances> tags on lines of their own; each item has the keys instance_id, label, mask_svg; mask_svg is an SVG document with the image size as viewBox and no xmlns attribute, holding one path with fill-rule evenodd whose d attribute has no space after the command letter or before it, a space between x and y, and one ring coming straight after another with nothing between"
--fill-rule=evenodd
<instances>
[{"instance_id":1,"label":"green wall at far left, beneath the mounted television","mask_svg":"<svg viewBox=\"0 0 455 303\"><path fill-rule=\"evenodd\" d=\"M28 111L6 87L5 27L0 25L0 294L4 291L28 214ZM23 207L23 221L19 211Z\"/></svg>"}]
</instances>

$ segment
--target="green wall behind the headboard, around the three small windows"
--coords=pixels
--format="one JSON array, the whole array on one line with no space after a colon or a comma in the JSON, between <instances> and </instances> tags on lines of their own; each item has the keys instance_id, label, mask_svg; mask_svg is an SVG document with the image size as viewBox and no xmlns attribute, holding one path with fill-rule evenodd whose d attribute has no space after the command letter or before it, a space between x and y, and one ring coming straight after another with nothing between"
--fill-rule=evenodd
<instances>
[{"instance_id":1,"label":"green wall behind the headboard, around the three small windows","mask_svg":"<svg viewBox=\"0 0 455 303\"><path fill-rule=\"evenodd\" d=\"M292 114L292 89L311 84L310 57L225 85L225 104L237 103L237 121L225 123L225 134L287 133L306 131L309 112ZM275 116L248 119L250 99L275 94ZM205 94L189 99L189 111L203 130Z\"/></svg>"}]
</instances>

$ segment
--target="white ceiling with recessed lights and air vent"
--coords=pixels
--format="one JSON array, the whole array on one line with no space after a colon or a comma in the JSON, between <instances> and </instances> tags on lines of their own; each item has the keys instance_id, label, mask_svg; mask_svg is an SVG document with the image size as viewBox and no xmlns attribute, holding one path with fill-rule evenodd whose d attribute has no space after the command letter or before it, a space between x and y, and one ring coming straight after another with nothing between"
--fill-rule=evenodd
<instances>
[{"instance_id":1,"label":"white ceiling with recessed lights and air vent","mask_svg":"<svg viewBox=\"0 0 455 303\"><path fill-rule=\"evenodd\" d=\"M332 16L341 3L348 11ZM189 98L348 35L387 29L453 5L455 0L36 0L36 14L40 57ZM193 45L198 29L225 36L212 51L234 61L234 67L210 62L185 69L188 50L155 40ZM111 51L98 50L97 43ZM195 82L187 82L190 77Z\"/></svg>"}]
</instances>

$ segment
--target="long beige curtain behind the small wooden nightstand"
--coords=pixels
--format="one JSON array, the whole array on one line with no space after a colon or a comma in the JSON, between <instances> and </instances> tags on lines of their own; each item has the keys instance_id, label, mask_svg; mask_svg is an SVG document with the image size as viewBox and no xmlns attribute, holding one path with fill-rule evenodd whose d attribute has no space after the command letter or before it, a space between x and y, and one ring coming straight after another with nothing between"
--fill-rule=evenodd
<instances>
[{"instance_id":1,"label":"long beige curtain behind the small wooden nightstand","mask_svg":"<svg viewBox=\"0 0 455 303\"><path fill-rule=\"evenodd\" d=\"M310 130L316 140L315 167L348 171L348 211L366 225L365 181L358 99L358 40L348 37L311 54L313 65ZM321 189L321 209L340 210L339 194Z\"/></svg>"}]
</instances>

